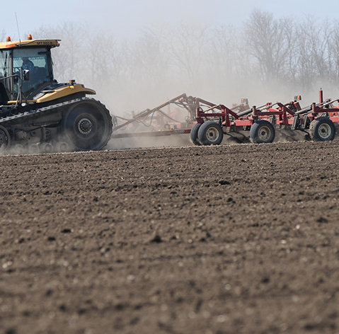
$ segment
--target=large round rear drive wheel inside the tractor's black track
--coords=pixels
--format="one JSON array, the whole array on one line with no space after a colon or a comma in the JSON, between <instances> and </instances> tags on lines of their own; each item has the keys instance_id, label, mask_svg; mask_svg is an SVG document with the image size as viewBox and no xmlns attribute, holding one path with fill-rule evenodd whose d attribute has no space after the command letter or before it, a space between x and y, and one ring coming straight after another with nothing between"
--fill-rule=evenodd
<instances>
[{"instance_id":1,"label":"large round rear drive wheel inside the tractor's black track","mask_svg":"<svg viewBox=\"0 0 339 334\"><path fill-rule=\"evenodd\" d=\"M62 132L69 146L76 150L99 150L112 134L112 117L105 105L97 100L84 100L64 113Z\"/></svg>"}]
</instances>

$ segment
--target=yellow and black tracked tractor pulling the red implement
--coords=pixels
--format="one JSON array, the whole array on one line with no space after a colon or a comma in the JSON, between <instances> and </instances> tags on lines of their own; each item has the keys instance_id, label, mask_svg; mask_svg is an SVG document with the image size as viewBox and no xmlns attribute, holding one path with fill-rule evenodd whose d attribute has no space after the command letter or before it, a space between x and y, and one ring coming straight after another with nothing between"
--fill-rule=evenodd
<instances>
[{"instance_id":1,"label":"yellow and black tracked tractor pulling the red implement","mask_svg":"<svg viewBox=\"0 0 339 334\"><path fill-rule=\"evenodd\" d=\"M74 80L54 79L51 49L59 40L0 42L0 151L103 149L115 117Z\"/></svg>"}]
</instances>

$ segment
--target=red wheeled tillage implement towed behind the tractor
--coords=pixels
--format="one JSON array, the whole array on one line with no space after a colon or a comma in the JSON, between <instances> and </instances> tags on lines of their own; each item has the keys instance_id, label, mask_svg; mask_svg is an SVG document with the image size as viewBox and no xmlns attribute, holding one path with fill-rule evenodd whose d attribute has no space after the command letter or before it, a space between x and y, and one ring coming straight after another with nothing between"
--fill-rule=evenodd
<instances>
[{"instance_id":1,"label":"red wheeled tillage implement towed behind the tractor","mask_svg":"<svg viewBox=\"0 0 339 334\"><path fill-rule=\"evenodd\" d=\"M247 99L240 105L227 108L202 98L187 96L185 93L158 105L153 109L133 114L113 128L113 138L158 137L172 134L189 134L196 145L219 145L224 134L251 141L255 144L271 143L276 130L289 134L296 130L306 139L328 141L335 137L335 123L339 123L339 106L336 100L323 100L323 91L319 91L319 102L306 108L299 104L300 96L289 103L266 103L260 107L248 107ZM167 108L167 111L163 109ZM185 120L182 118L186 113ZM151 127L151 131L140 131L139 125ZM143 127L145 129L145 127Z\"/></svg>"}]
</instances>

